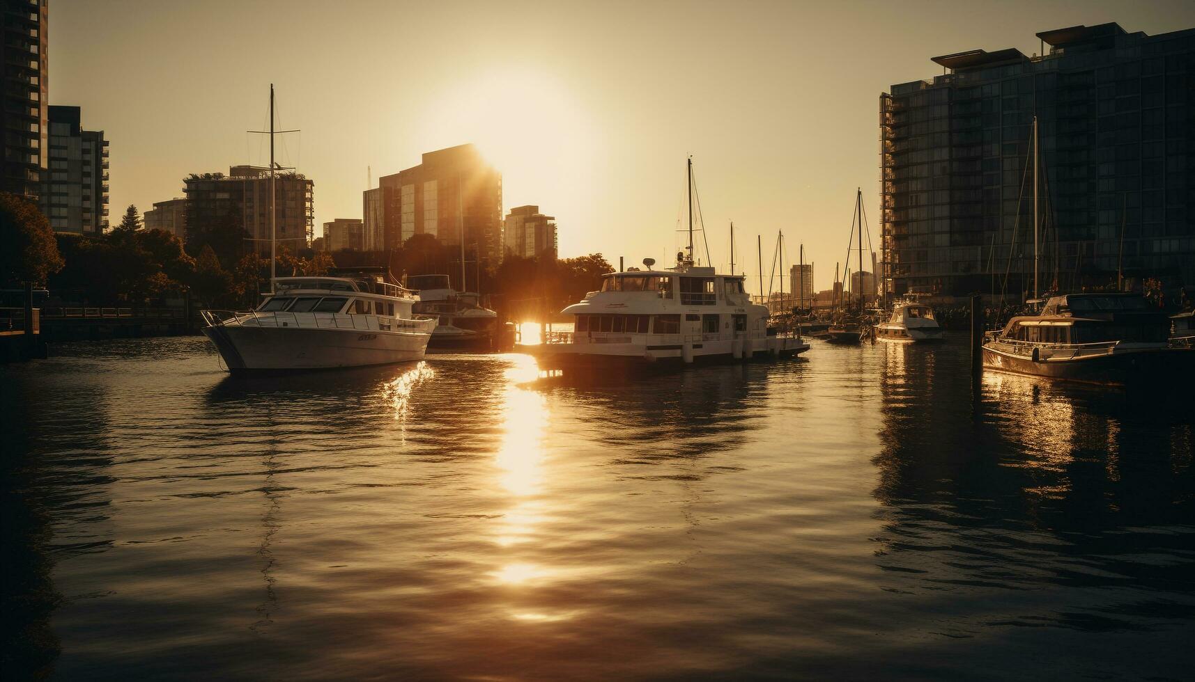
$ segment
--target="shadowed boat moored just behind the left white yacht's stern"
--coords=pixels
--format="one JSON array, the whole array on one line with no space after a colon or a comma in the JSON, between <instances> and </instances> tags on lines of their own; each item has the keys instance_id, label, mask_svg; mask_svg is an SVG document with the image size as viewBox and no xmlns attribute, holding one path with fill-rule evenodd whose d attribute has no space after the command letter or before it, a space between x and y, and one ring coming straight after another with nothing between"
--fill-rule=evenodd
<instances>
[{"instance_id":1,"label":"shadowed boat moored just behind the left white yacht's stern","mask_svg":"<svg viewBox=\"0 0 1195 682\"><path fill-rule=\"evenodd\" d=\"M437 320L430 348L491 349L498 340L498 314L480 302L480 295L456 291L447 275L419 275L406 278L417 291L416 315Z\"/></svg>"}]
</instances>

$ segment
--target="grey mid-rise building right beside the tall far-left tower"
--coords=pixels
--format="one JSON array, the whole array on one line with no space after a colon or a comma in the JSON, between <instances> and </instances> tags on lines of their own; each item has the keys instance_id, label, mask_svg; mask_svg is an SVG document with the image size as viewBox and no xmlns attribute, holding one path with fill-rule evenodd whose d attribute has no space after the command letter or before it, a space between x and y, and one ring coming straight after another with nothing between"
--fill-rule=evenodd
<instances>
[{"instance_id":1,"label":"grey mid-rise building right beside the tall far-left tower","mask_svg":"<svg viewBox=\"0 0 1195 682\"><path fill-rule=\"evenodd\" d=\"M55 232L103 234L108 229L108 140L84 130L78 106L50 107L49 172L39 204Z\"/></svg>"}]
</instances>

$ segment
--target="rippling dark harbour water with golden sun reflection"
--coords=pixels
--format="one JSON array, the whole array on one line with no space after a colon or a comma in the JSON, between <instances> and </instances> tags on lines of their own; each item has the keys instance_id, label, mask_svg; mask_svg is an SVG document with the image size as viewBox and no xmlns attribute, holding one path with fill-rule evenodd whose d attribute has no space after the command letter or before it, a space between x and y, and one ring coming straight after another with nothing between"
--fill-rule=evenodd
<instances>
[{"instance_id":1,"label":"rippling dark harbour water with golden sun reflection","mask_svg":"<svg viewBox=\"0 0 1195 682\"><path fill-rule=\"evenodd\" d=\"M534 381L0 368L8 678L1183 678L1190 401L966 348Z\"/></svg>"}]
</instances>

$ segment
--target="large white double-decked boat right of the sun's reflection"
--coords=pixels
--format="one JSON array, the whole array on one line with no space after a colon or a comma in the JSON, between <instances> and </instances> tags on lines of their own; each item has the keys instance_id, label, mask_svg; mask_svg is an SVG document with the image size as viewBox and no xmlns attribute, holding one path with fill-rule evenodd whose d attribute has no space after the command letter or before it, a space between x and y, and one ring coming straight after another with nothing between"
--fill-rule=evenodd
<instances>
[{"instance_id":1,"label":"large white double-decked boat right of the sun's reflection","mask_svg":"<svg viewBox=\"0 0 1195 682\"><path fill-rule=\"evenodd\" d=\"M564 308L572 332L550 333L537 349L541 369L788 357L809 350L770 328L766 306L750 301L742 275L718 275L682 256L678 265L611 272L601 290Z\"/></svg>"}]
</instances>

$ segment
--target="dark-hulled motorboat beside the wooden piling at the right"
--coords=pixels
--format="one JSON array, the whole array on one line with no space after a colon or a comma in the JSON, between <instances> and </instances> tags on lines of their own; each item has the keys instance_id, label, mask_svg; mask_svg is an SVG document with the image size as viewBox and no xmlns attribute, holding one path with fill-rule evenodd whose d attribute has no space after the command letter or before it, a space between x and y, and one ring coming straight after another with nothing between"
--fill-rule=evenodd
<instances>
[{"instance_id":1,"label":"dark-hulled motorboat beside the wooden piling at the right","mask_svg":"<svg viewBox=\"0 0 1195 682\"><path fill-rule=\"evenodd\" d=\"M983 344L983 368L1092 383L1164 383L1195 375L1195 349L1140 294L1067 294L1009 320Z\"/></svg>"}]
</instances>

